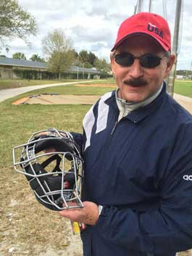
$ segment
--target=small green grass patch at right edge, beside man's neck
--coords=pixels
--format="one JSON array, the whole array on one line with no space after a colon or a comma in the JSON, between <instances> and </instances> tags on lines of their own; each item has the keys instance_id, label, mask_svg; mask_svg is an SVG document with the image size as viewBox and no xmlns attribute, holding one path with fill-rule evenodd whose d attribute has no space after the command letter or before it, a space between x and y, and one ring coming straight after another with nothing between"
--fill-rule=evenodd
<instances>
[{"instance_id":1,"label":"small green grass patch at right edge, beside man's neck","mask_svg":"<svg viewBox=\"0 0 192 256\"><path fill-rule=\"evenodd\" d=\"M192 98L192 80L175 80L174 92Z\"/></svg>"}]
</instances>

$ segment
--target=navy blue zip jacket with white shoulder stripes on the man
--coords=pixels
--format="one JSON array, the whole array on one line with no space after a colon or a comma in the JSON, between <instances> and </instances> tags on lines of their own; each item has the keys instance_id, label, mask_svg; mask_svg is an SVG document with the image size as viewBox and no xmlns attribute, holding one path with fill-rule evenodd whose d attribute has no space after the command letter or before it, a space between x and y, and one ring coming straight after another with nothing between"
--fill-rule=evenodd
<instances>
[{"instance_id":1,"label":"navy blue zip jacket with white shoulder stripes on the man","mask_svg":"<svg viewBox=\"0 0 192 256\"><path fill-rule=\"evenodd\" d=\"M172 256L192 248L192 117L166 93L119 123L115 93L83 120L83 200L104 205L84 256ZM75 136L78 140L78 134Z\"/></svg>"}]
</instances>

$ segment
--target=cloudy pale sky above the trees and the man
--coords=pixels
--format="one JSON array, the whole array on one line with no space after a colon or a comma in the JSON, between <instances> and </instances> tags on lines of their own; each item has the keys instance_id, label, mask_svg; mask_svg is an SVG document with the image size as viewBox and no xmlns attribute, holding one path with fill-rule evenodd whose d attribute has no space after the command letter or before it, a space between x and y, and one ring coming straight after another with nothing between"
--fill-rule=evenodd
<instances>
[{"instance_id":1,"label":"cloudy pale sky above the trees and the man","mask_svg":"<svg viewBox=\"0 0 192 256\"><path fill-rule=\"evenodd\" d=\"M137 0L17 0L35 17L38 24L36 36L30 36L30 47L21 39L9 42L9 52L0 54L12 57L22 52L27 59L33 54L43 56L41 40L55 29L64 30L71 38L75 51L92 51L109 62L109 54L116 40L120 23L134 13ZM143 0L143 11L149 11L149 1ZM173 35L176 0L151 1L151 12L164 16ZM163 5L166 9L163 9ZM177 70L191 70L192 64L192 1L183 0L183 18L180 25Z\"/></svg>"}]
</instances>

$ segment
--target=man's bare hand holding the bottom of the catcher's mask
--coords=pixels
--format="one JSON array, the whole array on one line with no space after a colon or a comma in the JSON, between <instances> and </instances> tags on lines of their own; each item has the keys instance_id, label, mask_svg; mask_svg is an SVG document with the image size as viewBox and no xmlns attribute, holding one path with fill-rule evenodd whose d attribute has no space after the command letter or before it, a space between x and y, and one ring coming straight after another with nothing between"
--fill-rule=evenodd
<instances>
[{"instance_id":1,"label":"man's bare hand holding the bottom of the catcher's mask","mask_svg":"<svg viewBox=\"0 0 192 256\"><path fill-rule=\"evenodd\" d=\"M74 202L68 203L68 205L73 206L77 205ZM83 208L75 208L70 210L61 210L59 211L59 215L68 218L72 221L76 221L78 223L85 223L88 225L95 225L96 221L99 218L99 210L98 206L93 202L85 201L83 202Z\"/></svg>"}]
</instances>

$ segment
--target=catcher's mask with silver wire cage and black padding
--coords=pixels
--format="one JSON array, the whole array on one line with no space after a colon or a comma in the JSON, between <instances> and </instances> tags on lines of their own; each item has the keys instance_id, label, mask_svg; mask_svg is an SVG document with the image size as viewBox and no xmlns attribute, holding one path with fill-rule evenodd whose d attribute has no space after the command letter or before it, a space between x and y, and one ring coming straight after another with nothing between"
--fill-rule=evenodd
<instances>
[{"instance_id":1,"label":"catcher's mask with silver wire cage and black padding","mask_svg":"<svg viewBox=\"0 0 192 256\"><path fill-rule=\"evenodd\" d=\"M14 146L13 163L42 205L51 210L83 207L83 160L69 132L50 128L33 133L27 143Z\"/></svg>"}]
</instances>

